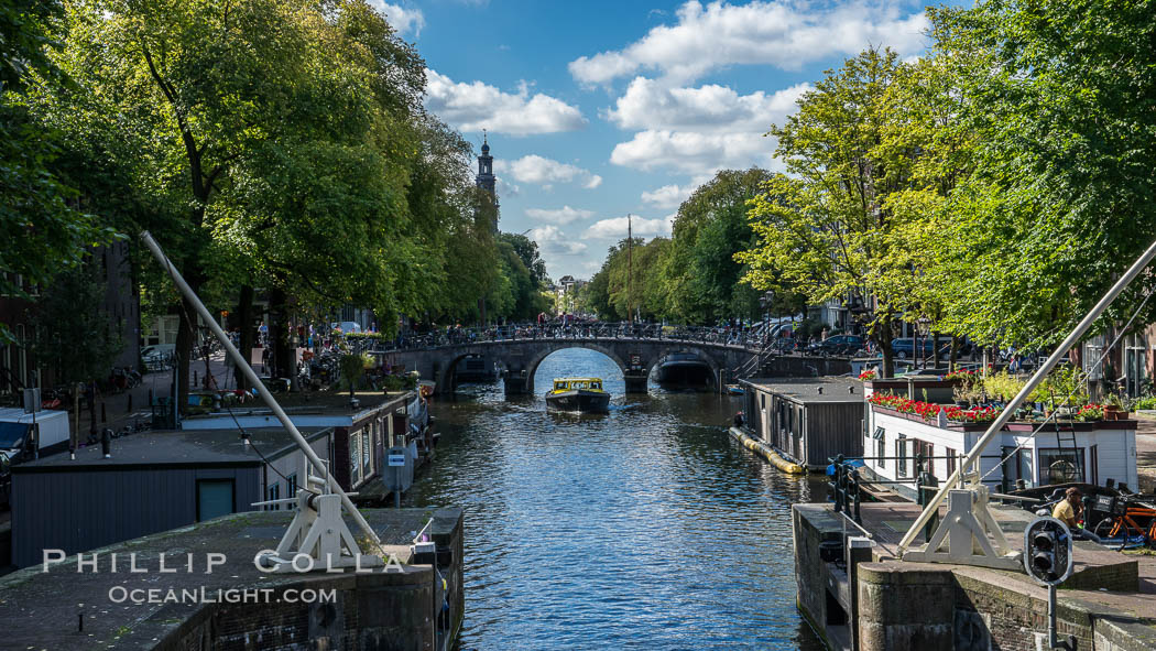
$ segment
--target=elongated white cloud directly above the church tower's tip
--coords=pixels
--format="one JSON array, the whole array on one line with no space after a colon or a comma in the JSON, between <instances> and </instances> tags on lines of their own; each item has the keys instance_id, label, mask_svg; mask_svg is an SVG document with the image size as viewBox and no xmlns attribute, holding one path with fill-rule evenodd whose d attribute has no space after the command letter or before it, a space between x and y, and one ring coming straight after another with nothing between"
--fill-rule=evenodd
<instances>
[{"instance_id":1,"label":"elongated white cloud directly above the church tower's tip","mask_svg":"<svg viewBox=\"0 0 1156 651\"><path fill-rule=\"evenodd\" d=\"M525 81L517 93L503 93L481 81L455 82L432 69L425 74L425 108L461 131L529 135L586 126L577 106L541 93L531 95Z\"/></svg>"}]
</instances>

